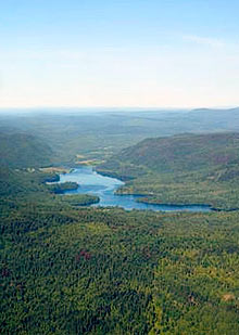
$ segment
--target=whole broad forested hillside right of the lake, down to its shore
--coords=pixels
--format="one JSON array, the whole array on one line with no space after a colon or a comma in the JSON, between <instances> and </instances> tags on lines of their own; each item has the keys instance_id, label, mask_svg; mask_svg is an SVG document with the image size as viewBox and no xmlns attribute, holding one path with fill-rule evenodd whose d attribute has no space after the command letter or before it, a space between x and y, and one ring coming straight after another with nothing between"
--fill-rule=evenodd
<instances>
[{"instance_id":1,"label":"whole broad forested hillside right of the lake, down to its shore","mask_svg":"<svg viewBox=\"0 0 239 335\"><path fill-rule=\"evenodd\" d=\"M147 139L123 150L98 171L126 181L120 193L150 203L239 207L239 133ZM140 199L139 199L140 201Z\"/></svg>"}]
</instances>

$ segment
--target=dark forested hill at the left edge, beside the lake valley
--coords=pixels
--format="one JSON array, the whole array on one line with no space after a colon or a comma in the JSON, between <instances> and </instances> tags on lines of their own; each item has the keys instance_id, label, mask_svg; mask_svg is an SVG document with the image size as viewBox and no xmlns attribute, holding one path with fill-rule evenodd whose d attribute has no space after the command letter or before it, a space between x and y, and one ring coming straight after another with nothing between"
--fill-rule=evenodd
<instances>
[{"instance_id":1,"label":"dark forested hill at the left edge, beside the lake valley","mask_svg":"<svg viewBox=\"0 0 239 335\"><path fill-rule=\"evenodd\" d=\"M27 168L49 165L52 150L28 133L0 133L0 165Z\"/></svg>"}]
</instances>

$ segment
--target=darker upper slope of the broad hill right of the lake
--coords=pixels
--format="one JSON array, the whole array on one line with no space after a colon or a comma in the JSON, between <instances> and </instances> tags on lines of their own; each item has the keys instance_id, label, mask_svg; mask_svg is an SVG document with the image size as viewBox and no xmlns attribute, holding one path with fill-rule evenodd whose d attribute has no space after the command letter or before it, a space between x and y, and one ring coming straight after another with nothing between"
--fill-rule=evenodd
<instances>
[{"instance_id":1,"label":"darker upper slope of the broad hill right of the lake","mask_svg":"<svg viewBox=\"0 0 239 335\"><path fill-rule=\"evenodd\" d=\"M121 160L156 171L186 171L239 163L239 133L147 139L121 152Z\"/></svg>"}]
</instances>

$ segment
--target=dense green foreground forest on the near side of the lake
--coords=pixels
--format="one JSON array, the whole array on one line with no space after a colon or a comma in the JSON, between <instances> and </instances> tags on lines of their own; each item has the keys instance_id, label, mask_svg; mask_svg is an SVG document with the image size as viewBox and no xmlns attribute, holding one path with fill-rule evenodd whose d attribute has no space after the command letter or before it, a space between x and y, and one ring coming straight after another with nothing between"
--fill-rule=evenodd
<instances>
[{"instance_id":1,"label":"dense green foreground forest on the near side of the lake","mask_svg":"<svg viewBox=\"0 0 239 335\"><path fill-rule=\"evenodd\" d=\"M0 203L2 334L238 334L238 212L80 208L15 173Z\"/></svg>"}]
</instances>

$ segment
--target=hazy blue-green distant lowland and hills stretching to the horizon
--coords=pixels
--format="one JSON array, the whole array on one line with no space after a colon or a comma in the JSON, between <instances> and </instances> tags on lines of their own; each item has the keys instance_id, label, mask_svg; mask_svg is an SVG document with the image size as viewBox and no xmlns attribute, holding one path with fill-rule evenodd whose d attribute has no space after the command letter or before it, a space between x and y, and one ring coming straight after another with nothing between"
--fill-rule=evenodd
<instances>
[{"instance_id":1,"label":"hazy blue-green distant lowland and hills stretching to the horizon","mask_svg":"<svg viewBox=\"0 0 239 335\"><path fill-rule=\"evenodd\" d=\"M48 113L47 113L48 112ZM239 108L192 111L35 111L0 115L0 132L30 133L58 152L60 160L108 158L149 137L239 131Z\"/></svg>"}]
</instances>

